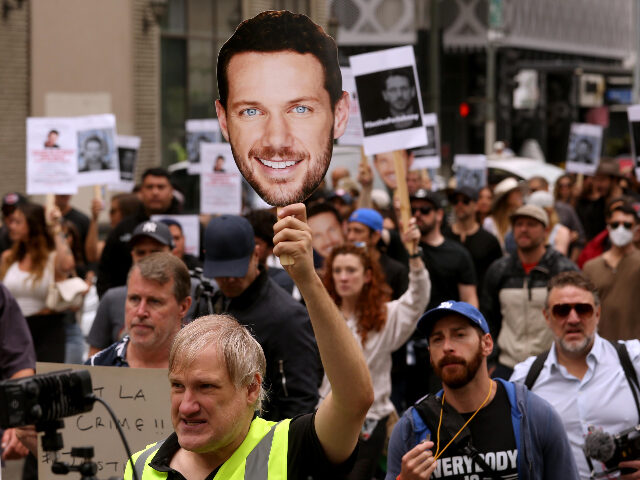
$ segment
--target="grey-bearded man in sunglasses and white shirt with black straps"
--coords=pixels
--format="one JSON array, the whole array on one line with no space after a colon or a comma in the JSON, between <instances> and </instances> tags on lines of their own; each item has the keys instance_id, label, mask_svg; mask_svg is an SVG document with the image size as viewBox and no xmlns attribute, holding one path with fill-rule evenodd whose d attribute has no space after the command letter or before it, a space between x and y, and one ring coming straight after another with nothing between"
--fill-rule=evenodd
<instances>
[{"instance_id":1,"label":"grey-bearded man in sunglasses and white shirt with black straps","mask_svg":"<svg viewBox=\"0 0 640 480\"><path fill-rule=\"evenodd\" d=\"M511 381L529 385L560 414L583 479L591 466L583 453L587 428L593 425L615 435L638 424L634 394L614 344L598 335L601 308L598 292L580 272L563 272L549 281L544 316L554 342L547 354L516 365ZM608 321L603 319L603 323ZM628 340L630 369L640 375L640 341ZM619 348L619 347L618 347ZM631 374L633 376L633 373ZM631 377L632 378L632 377ZM601 470L599 462L592 464ZM596 465L597 464L597 465ZM620 464L640 478L640 460Z\"/></svg>"}]
</instances>

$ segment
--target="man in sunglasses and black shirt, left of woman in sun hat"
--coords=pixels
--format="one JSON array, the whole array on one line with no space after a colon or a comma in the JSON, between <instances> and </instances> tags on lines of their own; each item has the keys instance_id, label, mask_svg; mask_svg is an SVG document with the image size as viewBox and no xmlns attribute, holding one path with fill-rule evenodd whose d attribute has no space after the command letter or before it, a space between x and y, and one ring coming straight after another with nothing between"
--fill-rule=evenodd
<instances>
[{"instance_id":1,"label":"man in sunglasses and black shirt, left of woman in sun hat","mask_svg":"<svg viewBox=\"0 0 640 480\"><path fill-rule=\"evenodd\" d=\"M458 187L449 195L449 203L456 221L451 230L444 230L445 237L460 242L471 254L478 279L482 287L484 274L489 266L502 257L502 248L495 235L487 232L476 219L478 192L469 187Z\"/></svg>"}]
</instances>

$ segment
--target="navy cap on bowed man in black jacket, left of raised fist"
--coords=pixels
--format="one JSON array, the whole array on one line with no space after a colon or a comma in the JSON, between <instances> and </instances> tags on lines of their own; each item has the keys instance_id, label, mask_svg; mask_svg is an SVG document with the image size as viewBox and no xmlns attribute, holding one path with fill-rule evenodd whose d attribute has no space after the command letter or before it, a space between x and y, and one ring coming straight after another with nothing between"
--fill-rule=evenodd
<instances>
[{"instance_id":1,"label":"navy cap on bowed man in black jacket, left of raised fist","mask_svg":"<svg viewBox=\"0 0 640 480\"><path fill-rule=\"evenodd\" d=\"M204 275L244 277L256 246L253 227L244 217L221 215L204 232Z\"/></svg>"}]
</instances>

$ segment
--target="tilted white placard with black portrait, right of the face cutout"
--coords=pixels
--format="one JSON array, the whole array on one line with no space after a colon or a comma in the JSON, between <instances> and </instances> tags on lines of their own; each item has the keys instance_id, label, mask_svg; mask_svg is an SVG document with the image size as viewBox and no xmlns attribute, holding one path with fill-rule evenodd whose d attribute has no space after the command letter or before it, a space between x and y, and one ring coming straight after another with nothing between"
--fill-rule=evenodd
<instances>
[{"instance_id":1,"label":"tilted white placard with black portrait, right of the face cutout","mask_svg":"<svg viewBox=\"0 0 640 480\"><path fill-rule=\"evenodd\" d=\"M350 57L367 155L427 144L413 47Z\"/></svg>"}]
</instances>

